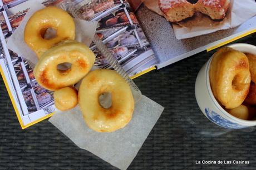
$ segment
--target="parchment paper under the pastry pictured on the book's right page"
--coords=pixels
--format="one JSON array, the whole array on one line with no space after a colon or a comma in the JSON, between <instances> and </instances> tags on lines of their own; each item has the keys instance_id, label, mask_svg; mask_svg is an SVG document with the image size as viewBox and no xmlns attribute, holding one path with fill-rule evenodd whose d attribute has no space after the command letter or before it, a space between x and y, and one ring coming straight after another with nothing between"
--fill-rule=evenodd
<instances>
[{"instance_id":1,"label":"parchment paper under the pastry pictured on the book's right page","mask_svg":"<svg viewBox=\"0 0 256 170\"><path fill-rule=\"evenodd\" d=\"M165 16L161 12L157 0L143 0L145 6L151 11ZM174 33L177 39L185 39L212 33L221 29L237 27L256 15L256 3L254 0L230 0L230 8L227 16L222 20L213 20L210 17L196 13L194 17L185 19L179 23L173 23Z\"/></svg>"}]
</instances>

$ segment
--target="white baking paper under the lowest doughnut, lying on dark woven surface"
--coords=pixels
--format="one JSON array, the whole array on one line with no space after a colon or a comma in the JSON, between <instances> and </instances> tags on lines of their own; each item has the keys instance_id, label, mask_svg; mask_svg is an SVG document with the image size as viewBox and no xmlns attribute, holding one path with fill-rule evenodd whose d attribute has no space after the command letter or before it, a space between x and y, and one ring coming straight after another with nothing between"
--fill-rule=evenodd
<instances>
[{"instance_id":1,"label":"white baking paper under the lowest doughnut, lying on dark woven surface","mask_svg":"<svg viewBox=\"0 0 256 170\"><path fill-rule=\"evenodd\" d=\"M67 112L56 112L49 121L78 147L112 166L127 169L163 110L164 107L142 96L135 105L130 123L112 133L99 133L88 128L78 106Z\"/></svg>"}]
</instances>

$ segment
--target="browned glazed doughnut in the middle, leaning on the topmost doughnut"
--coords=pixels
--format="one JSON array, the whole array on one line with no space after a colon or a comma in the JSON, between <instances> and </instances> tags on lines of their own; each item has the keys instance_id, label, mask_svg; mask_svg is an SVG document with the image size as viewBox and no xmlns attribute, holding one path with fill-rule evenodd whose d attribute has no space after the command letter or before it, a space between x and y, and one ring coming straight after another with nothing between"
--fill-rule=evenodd
<instances>
[{"instance_id":1,"label":"browned glazed doughnut in the middle, leaning on the topmost doughnut","mask_svg":"<svg viewBox=\"0 0 256 170\"><path fill-rule=\"evenodd\" d=\"M66 40L46 51L34 68L36 81L51 91L72 86L80 81L95 62L93 52L84 44ZM71 68L63 71L58 64L71 63Z\"/></svg>"}]
</instances>

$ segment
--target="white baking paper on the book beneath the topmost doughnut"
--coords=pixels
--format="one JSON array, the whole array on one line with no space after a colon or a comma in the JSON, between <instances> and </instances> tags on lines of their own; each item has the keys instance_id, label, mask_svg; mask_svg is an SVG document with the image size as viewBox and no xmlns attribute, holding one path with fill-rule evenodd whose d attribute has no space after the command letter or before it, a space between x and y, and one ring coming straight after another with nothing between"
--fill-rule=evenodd
<instances>
[{"instance_id":1,"label":"white baking paper on the book beneath the topmost doughnut","mask_svg":"<svg viewBox=\"0 0 256 170\"><path fill-rule=\"evenodd\" d=\"M19 24L18 28L14 31L11 37L8 38L7 46L13 52L19 54L19 56L26 58L29 61L29 64L32 64L31 67L33 67L33 65L35 66L35 64L37 63L38 58L36 56L36 53L33 52L31 48L29 48L24 42L24 28L32 14L39 9L45 8L45 6L43 6L40 1L29 3L29 5L31 6L27 8L30 9L27 12L26 16L23 18L21 24ZM90 46L91 40L96 32L97 22L88 22L77 18L75 18L74 21L76 24L76 41L82 42L87 46Z\"/></svg>"}]
</instances>

